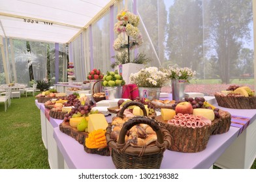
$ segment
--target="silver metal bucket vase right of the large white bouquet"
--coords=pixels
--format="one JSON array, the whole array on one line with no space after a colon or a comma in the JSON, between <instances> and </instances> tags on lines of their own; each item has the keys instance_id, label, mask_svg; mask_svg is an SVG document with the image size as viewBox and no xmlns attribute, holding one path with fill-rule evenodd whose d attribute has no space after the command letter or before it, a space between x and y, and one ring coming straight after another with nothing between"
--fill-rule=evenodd
<instances>
[{"instance_id":1,"label":"silver metal bucket vase right of the large white bouquet","mask_svg":"<svg viewBox=\"0 0 256 182\"><path fill-rule=\"evenodd\" d=\"M172 79L172 99L180 101L185 95L185 85L187 81L184 79Z\"/></svg>"}]
</instances>

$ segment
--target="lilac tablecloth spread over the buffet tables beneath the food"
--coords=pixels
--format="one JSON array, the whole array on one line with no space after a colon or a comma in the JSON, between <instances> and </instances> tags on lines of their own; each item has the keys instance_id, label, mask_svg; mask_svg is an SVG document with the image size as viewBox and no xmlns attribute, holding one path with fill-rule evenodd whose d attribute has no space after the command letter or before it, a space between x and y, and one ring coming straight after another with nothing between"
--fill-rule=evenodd
<instances>
[{"instance_id":1,"label":"lilac tablecloth spread over the buffet tables beneath the food","mask_svg":"<svg viewBox=\"0 0 256 182\"><path fill-rule=\"evenodd\" d=\"M236 114L236 116L251 118L251 122L256 118L256 109L238 110L218 108L227 110L231 114ZM44 106L42 105L40 109L44 109ZM110 116L107 116L106 118L109 119ZM54 138L57 146L69 168L115 168L111 157L86 153L84 147L74 140L74 138L62 133L58 127L61 122L62 120L50 118L50 123L52 123L54 127ZM206 149L198 153L181 153L166 150L161 163L161 168L210 168L225 149L236 140L238 133L240 133L239 127L230 127L227 133L212 135L210 136Z\"/></svg>"}]
</instances>

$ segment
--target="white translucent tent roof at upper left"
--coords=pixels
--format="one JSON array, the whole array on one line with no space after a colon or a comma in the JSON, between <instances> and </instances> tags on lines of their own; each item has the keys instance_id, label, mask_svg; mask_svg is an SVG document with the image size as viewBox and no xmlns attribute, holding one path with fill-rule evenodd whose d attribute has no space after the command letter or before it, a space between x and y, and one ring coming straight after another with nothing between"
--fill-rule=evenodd
<instances>
[{"instance_id":1,"label":"white translucent tent roof at upper left","mask_svg":"<svg viewBox=\"0 0 256 182\"><path fill-rule=\"evenodd\" d=\"M113 0L0 0L0 35L67 43L113 3Z\"/></svg>"}]
</instances>

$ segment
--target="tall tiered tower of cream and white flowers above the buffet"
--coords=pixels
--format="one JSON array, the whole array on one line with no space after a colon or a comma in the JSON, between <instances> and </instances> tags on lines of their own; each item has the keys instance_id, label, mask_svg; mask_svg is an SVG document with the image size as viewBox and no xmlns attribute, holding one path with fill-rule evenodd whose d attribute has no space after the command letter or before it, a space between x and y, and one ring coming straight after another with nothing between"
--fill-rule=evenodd
<instances>
[{"instance_id":1,"label":"tall tiered tower of cream and white flowers above the buffet","mask_svg":"<svg viewBox=\"0 0 256 182\"><path fill-rule=\"evenodd\" d=\"M116 18L118 22L114 25L114 32L118 34L118 38L114 41L114 49L116 51L123 51L123 49L139 47L143 43L143 40L142 34L137 28L140 22L138 16L128 10L121 10ZM121 34L122 32L129 36L129 40L125 40Z\"/></svg>"}]
</instances>

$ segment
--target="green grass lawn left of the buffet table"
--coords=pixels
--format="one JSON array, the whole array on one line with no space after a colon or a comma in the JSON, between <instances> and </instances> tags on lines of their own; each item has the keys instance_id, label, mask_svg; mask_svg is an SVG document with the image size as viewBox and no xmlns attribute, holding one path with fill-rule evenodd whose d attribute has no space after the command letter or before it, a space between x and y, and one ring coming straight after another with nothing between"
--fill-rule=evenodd
<instances>
[{"instance_id":1,"label":"green grass lawn left of the buffet table","mask_svg":"<svg viewBox=\"0 0 256 182\"><path fill-rule=\"evenodd\" d=\"M50 168L33 96L12 99L7 112L0 103L0 123L0 169ZM256 168L256 161L251 168Z\"/></svg>"}]
</instances>

